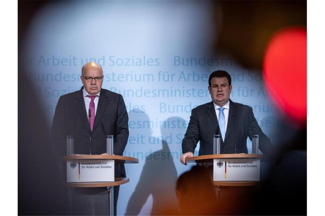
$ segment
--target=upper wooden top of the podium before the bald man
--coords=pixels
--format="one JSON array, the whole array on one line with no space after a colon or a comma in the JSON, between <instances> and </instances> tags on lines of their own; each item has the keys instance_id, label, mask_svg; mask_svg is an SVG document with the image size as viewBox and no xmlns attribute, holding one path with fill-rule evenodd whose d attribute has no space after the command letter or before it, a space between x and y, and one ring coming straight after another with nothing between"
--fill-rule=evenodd
<instances>
[{"instance_id":1,"label":"upper wooden top of the podium before the bald man","mask_svg":"<svg viewBox=\"0 0 325 216\"><path fill-rule=\"evenodd\" d=\"M73 155L63 156L62 160L115 160L116 163L136 164L139 160L134 157L120 156L120 155Z\"/></svg>"}]
</instances>

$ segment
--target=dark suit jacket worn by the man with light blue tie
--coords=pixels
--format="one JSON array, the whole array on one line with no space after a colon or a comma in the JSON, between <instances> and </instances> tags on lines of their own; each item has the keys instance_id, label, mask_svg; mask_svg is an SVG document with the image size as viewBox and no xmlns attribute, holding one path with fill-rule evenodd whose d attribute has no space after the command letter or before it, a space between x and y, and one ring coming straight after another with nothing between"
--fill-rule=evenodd
<instances>
[{"instance_id":1,"label":"dark suit jacket worn by the man with light blue tie","mask_svg":"<svg viewBox=\"0 0 325 216\"><path fill-rule=\"evenodd\" d=\"M227 131L224 142L221 139L221 153L235 153L235 148L236 153L248 153L247 137L252 140L252 135L255 134L259 135L259 149L263 153L269 152L271 148L270 139L258 125L253 109L247 105L229 101ZM211 101L192 109L182 142L183 153L194 153L194 149L200 140L199 155L213 154L213 135L215 134L221 133L214 104Z\"/></svg>"}]
</instances>

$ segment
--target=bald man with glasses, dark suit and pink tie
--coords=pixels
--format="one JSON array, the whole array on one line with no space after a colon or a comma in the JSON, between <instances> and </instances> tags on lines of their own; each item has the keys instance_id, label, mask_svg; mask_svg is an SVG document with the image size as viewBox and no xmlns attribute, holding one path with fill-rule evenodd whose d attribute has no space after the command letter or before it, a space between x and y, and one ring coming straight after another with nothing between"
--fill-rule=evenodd
<instances>
[{"instance_id":1,"label":"bald man with glasses, dark suit and pink tie","mask_svg":"<svg viewBox=\"0 0 325 216\"><path fill-rule=\"evenodd\" d=\"M101 88L103 77L100 65L87 63L82 67L81 90L59 98L52 141L60 155L66 155L67 135L74 138L75 154L105 154L106 135L114 136L114 154L123 154L129 136L126 107L122 95ZM115 177L126 177L123 164L115 163ZM119 186L114 187L115 215L118 193ZM92 205L96 208L96 203Z\"/></svg>"}]
</instances>

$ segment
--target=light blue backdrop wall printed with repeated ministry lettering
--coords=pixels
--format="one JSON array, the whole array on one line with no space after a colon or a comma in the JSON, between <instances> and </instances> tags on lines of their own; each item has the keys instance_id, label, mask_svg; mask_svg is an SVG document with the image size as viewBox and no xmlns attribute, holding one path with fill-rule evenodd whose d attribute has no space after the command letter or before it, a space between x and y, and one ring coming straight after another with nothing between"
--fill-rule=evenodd
<instances>
[{"instance_id":1,"label":"light blue backdrop wall printed with repeated ministry lettering","mask_svg":"<svg viewBox=\"0 0 325 216\"><path fill-rule=\"evenodd\" d=\"M102 87L123 95L130 131L123 155L139 164L125 165L130 182L120 188L120 215L176 204L175 181L191 166L179 162L181 141L191 109L211 101L208 77L215 70L231 74L230 98L252 106L271 142L279 141L279 113L261 72L214 50L222 11L211 8L209 2L53 2L28 28L19 64L48 122L59 96L80 89L81 67L89 61L103 67Z\"/></svg>"}]
</instances>

